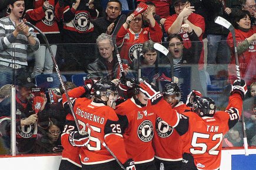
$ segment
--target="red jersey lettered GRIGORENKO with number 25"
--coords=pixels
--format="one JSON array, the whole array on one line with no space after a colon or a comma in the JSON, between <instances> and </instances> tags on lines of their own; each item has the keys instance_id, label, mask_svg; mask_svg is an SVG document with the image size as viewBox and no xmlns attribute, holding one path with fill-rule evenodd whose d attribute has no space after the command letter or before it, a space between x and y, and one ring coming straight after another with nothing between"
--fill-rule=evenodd
<instances>
[{"instance_id":1,"label":"red jersey lettered GRIGORENKO with number 25","mask_svg":"<svg viewBox=\"0 0 256 170\"><path fill-rule=\"evenodd\" d=\"M89 134L87 147L81 147L80 149L82 164L94 165L114 160L98 138L104 140L119 161L124 164L128 158L125 153L124 140L122 139L117 114L111 107L105 106L103 103L95 103L88 98L75 98L81 96L81 93L85 93L84 87L77 87L68 92L81 130L87 131ZM64 94L62 98L65 107L68 104L67 97ZM95 132L86 127L87 123L91 125ZM65 138L63 142L69 142L68 138Z\"/></svg>"}]
</instances>

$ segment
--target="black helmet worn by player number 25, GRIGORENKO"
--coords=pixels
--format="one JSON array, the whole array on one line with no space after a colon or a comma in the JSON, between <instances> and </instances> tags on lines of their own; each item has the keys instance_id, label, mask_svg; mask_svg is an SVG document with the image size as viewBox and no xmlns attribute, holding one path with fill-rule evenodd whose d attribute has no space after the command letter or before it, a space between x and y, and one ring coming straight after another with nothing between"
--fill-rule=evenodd
<instances>
[{"instance_id":1,"label":"black helmet worn by player number 25, GRIGORENKO","mask_svg":"<svg viewBox=\"0 0 256 170\"><path fill-rule=\"evenodd\" d=\"M112 83L109 80L100 79L94 84L94 96L95 97L101 97L101 96L107 96L111 93L114 93L115 96L118 95L117 87L114 83Z\"/></svg>"}]
</instances>

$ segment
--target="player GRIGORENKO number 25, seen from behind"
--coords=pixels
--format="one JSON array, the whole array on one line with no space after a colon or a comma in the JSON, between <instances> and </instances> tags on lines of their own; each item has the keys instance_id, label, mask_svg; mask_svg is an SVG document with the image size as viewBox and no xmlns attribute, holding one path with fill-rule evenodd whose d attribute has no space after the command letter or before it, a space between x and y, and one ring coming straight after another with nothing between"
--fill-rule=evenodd
<instances>
[{"instance_id":1,"label":"player GRIGORENKO number 25, seen from behind","mask_svg":"<svg viewBox=\"0 0 256 170\"><path fill-rule=\"evenodd\" d=\"M103 147L95 133L108 145L119 161L128 170L134 170L132 159L125 153L124 141L117 114L112 106L117 98L117 89L114 83L108 80L99 80L94 85L94 99L79 98L86 90L91 89L91 84L77 87L69 91L71 103L81 130L87 132L80 134L78 131L62 134L62 144L81 147L80 158L82 169L121 169L112 155ZM67 108L67 97L62 96L64 107ZM91 125L95 132L89 130L85 124Z\"/></svg>"}]
</instances>

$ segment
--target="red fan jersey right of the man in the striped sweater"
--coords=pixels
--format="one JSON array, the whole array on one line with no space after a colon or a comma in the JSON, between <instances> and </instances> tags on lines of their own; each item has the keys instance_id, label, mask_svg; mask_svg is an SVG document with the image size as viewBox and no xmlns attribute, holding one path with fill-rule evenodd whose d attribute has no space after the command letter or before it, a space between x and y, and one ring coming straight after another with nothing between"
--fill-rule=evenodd
<instances>
[{"instance_id":1,"label":"red fan jersey right of the man in the striped sweater","mask_svg":"<svg viewBox=\"0 0 256 170\"><path fill-rule=\"evenodd\" d=\"M59 28L55 20L55 0L48 0L50 5L45 11L42 8L44 2L44 0L34 0L31 2L33 5L26 4L26 6L32 6L26 10L24 18L34 23L44 33L59 33Z\"/></svg>"}]
</instances>

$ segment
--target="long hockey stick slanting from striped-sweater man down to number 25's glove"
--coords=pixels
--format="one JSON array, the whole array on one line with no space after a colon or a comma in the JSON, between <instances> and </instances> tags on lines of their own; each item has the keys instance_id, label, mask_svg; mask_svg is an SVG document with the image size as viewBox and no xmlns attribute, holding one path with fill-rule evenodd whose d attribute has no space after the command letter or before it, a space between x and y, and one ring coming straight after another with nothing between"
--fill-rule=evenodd
<instances>
[{"instance_id":1,"label":"long hockey stick slanting from striped-sweater man down to number 25's glove","mask_svg":"<svg viewBox=\"0 0 256 170\"><path fill-rule=\"evenodd\" d=\"M48 42L48 40L47 40L45 34L42 33L42 31L41 31L40 29L38 29L35 25L32 25L32 24L29 23L29 22L25 22L25 24L28 25L28 26L30 26L30 27L32 27L32 28L34 28L35 30L37 30L38 33L42 36L42 38L45 40L46 46L48 47L49 52L50 52L51 57L52 57L52 61L54 62L54 66L55 66L55 69L56 69L56 73L58 74L59 81L61 82L62 89L64 90L64 93L65 93L65 95L66 95L66 97L67 97L68 105L69 105L69 108L70 108L70 110L71 110L71 113L72 113L72 115L73 115L73 117L74 117L75 124L77 125L77 129L78 129L78 131L79 131L79 134L82 134L81 128L79 127L79 124L78 124L78 121L77 121L77 117L75 117L75 113L74 113L74 110L73 110L73 106L72 106L71 101L70 101L70 99L69 99L69 97L68 97L68 92L67 92L67 90L66 90L66 88L65 88L65 86L64 86L64 81L63 81L63 79L62 79L61 72L59 72L59 67L58 67L58 65L57 65L57 63L56 63L56 60L55 60L55 57L54 57L54 53L52 52L51 46L49 45L49 42Z\"/></svg>"}]
</instances>

